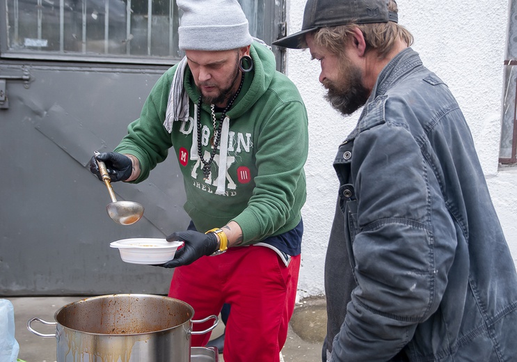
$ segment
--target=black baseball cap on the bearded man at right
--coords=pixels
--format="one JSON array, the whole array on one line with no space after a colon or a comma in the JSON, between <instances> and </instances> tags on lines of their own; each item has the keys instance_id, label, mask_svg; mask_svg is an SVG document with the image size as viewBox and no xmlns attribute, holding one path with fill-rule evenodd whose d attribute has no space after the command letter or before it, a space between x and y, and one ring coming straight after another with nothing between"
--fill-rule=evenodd
<instances>
[{"instance_id":1,"label":"black baseball cap on the bearded man at right","mask_svg":"<svg viewBox=\"0 0 517 362\"><path fill-rule=\"evenodd\" d=\"M301 49L306 33L325 26L398 22L397 13L388 11L388 0L308 0L301 31L275 40L278 47Z\"/></svg>"}]
</instances>

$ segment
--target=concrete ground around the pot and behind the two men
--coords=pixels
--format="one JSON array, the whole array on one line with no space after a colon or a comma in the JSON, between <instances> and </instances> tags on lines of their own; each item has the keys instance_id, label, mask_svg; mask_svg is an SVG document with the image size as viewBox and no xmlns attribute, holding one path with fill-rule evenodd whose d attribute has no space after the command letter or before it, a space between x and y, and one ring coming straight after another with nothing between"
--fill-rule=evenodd
<instances>
[{"instance_id":1,"label":"concrete ground around the pot and behind the two men","mask_svg":"<svg viewBox=\"0 0 517 362\"><path fill-rule=\"evenodd\" d=\"M26 362L55 362L56 338L35 336L26 327L31 318L38 317L47 322L54 322L56 310L66 304L84 297L0 297L8 299L15 310L15 338L19 343L18 358ZM53 334L55 326L45 326L33 322L33 329L40 333ZM220 336L224 325L214 329L212 338ZM282 350L284 362L319 362L321 361L321 343L325 336L326 310L324 299L305 299L296 305L289 324L289 334ZM223 361L223 355L219 355ZM114 361L116 362L116 361ZM252 361L250 361L252 362ZM255 361L253 361L255 362ZM256 361L260 362L260 361Z\"/></svg>"}]
</instances>

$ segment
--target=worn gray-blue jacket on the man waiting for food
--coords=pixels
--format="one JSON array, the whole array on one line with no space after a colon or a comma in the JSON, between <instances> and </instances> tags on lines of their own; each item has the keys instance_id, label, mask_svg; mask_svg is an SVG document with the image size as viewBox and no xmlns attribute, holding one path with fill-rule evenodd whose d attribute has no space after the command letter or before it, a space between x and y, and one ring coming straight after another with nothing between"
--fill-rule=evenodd
<instances>
[{"instance_id":1,"label":"worn gray-blue jacket on the man waiting for food","mask_svg":"<svg viewBox=\"0 0 517 362\"><path fill-rule=\"evenodd\" d=\"M348 259L326 260L331 361L516 361L514 261L466 120L413 49L379 74L334 166L344 220L327 255Z\"/></svg>"}]
</instances>

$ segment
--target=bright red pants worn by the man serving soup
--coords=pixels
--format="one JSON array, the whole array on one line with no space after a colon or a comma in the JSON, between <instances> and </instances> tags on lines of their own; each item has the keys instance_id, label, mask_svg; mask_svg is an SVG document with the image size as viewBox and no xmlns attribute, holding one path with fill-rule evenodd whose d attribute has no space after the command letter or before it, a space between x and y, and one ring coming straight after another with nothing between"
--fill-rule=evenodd
<instances>
[{"instance_id":1,"label":"bright red pants worn by the man serving soup","mask_svg":"<svg viewBox=\"0 0 517 362\"><path fill-rule=\"evenodd\" d=\"M168 295L190 304L193 320L218 315L224 303L231 305L225 362L278 362L294 310L299 269L300 255L285 267L267 247L230 248L176 268ZM213 323L195 323L193 331ZM206 345L210 334L192 335L192 346Z\"/></svg>"}]
</instances>

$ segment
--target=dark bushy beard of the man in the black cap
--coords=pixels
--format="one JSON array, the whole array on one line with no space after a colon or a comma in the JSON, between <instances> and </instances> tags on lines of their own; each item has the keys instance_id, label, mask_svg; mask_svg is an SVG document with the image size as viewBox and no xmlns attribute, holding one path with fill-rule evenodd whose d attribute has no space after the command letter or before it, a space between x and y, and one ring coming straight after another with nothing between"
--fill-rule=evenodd
<instances>
[{"instance_id":1,"label":"dark bushy beard of the man in the black cap","mask_svg":"<svg viewBox=\"0 0 517 362\"><path fill-rule=\"evenodd\" d=\"M347 75L344 75L347 72ZM338 81L325 79L323 85L328 93L324 96L331 106L345 116L365 105L370 91L363 86L362 75L357 68L342 70Z\"/></svg>"}]
</instances>

